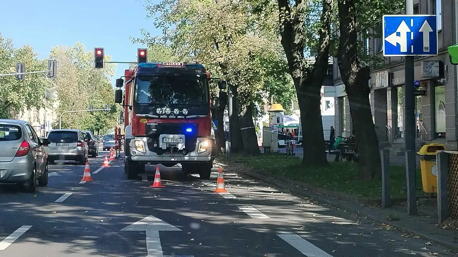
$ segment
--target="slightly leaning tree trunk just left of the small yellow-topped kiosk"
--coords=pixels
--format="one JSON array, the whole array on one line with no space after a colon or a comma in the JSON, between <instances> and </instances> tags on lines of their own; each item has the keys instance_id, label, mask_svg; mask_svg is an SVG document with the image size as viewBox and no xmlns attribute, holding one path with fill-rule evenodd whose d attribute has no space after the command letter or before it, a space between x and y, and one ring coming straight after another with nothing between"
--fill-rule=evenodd
<instances>
[{"instance_id":1,"label":"slightly leaning tree trunk just left of the small yellow-topped kiosk","mask_svg":"<svg viewBox=\"0 0 458 257\"><path fill-rule=\"evenodd\" d=\"M243 149L246 155L259 155L256 128L253 123L252 105L244 107L240 113L240 131L243 139Z\"/></svg>"}]
</instances>

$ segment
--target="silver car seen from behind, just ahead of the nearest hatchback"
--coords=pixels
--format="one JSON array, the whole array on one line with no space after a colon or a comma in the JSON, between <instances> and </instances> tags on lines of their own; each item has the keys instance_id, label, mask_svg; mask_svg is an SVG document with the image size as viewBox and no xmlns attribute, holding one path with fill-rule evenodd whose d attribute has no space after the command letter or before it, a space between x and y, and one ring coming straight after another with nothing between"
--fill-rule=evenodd
<instances>
[{"instance_id":1,"label":"silver car seen from behind, just ahead of the nearest hatchback","mask_svg":"<svg viewBox=\"0 0 458 257\"><path fill-rule=\"evenodd\" d=\"M88 147L84 136L78 129L53 129L49 131L49 145L44 145L49 163L56 160L77 161L86 164Z\"/></svg>"}]
</instances>

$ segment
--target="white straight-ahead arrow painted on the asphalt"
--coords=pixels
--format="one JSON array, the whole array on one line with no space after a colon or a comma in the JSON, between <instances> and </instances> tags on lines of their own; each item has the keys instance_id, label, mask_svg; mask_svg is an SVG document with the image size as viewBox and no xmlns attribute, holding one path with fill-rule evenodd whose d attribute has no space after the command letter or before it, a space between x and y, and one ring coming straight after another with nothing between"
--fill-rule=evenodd
<instances>
[{"instance_id":1,"label":"white straight-ahead arrow painted on the asphalt","mask_svg":"<svg viewBox=\"0 0 458 257\"><path fill-rule=\"evenodd\" d=\"M170 225L163 220L154 216L147 216L131 225L121 229L121 231L145 231L146 232L146 249L147 257L164 257L162 252L161 239L159 231L182 231L179 228Z\"/></svg>"}]
</instances>

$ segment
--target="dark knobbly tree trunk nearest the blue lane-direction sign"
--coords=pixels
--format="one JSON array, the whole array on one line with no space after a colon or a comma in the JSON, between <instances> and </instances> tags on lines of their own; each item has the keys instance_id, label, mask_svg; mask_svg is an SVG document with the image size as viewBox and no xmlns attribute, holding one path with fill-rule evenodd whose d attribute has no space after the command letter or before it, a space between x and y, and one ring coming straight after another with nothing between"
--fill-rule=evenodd
<instances>
[{"instance_id":1,"label":"dark knobbly tree trunk nearest the blue lane-direction sign","mask_svg":"<svg viewBox=\"0 0 458 257\"><path fill-rule=\"evenodd\" d=\"M345 84L359 153L360 178L382 174L378 139L369 102L371 68L359 59L358 8L355 0L338 1L338 66Z\"/></svg>"}]
</instances>

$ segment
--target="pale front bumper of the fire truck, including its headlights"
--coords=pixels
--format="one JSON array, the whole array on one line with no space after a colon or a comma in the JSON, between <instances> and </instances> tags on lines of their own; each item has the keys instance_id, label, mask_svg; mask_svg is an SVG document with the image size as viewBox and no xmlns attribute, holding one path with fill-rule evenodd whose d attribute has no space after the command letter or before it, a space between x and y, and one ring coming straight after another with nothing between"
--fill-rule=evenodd
<instances>
[{"instance_id":1,"label":"pale front bumper of the fire truck, including its headlights","mask_svg":"<svg viewBox=\"0 0 458 257\"><path fill-rule=\"evenodd\" d=\"M164 152L157 154L148 150L146 138L135 138L130 144L130 159L144 162L203 162L213 161L216 155L214 139L197 138L196 149L186 154Z\"/></svg>"}]
</instances>

